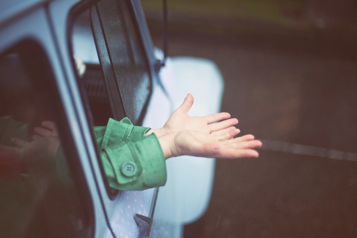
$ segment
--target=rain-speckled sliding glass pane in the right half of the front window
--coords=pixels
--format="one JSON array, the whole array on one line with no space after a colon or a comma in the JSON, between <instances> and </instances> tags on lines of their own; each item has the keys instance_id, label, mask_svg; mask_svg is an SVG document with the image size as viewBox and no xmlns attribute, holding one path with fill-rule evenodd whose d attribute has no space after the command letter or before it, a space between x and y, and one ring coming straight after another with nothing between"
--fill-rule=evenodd
<instances>
[{"instance_id":1,"label":"rain-speckled sliding glass pane in the right half of the front window","mask_svg":"<svg viewBox=\"0 0 357 238\"><path fill-rule=\"evenodd\" d=\"M117 85L125 116L140 125L151 81L131 3L101 0L91 7L90 18L105 81ZM109 100L118 99L109 95Z\"/></svg>"}]
</instances>

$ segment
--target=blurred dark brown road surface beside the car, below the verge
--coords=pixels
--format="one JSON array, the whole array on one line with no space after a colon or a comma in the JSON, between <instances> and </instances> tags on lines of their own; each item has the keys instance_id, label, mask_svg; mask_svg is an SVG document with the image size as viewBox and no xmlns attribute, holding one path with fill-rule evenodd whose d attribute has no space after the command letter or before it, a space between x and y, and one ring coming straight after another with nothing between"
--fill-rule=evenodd
<instances>
[{"instance_id":1,"label":"blurred dark brown road surface beside the car, below the verge","mask_svg":"<svg viewBox=\"0 0 357 238\"><path fill-rule=\"evenodd\" d=\"M160 47L161 33L149 27ZM170 32L169 55L218 65L222 111L238 118L242 135L343 156L266 147L258 159L217 160L209 208L185 226L184 238L357 237L357 161L345 159L357 153L356 44L197 32Z\"/></svg>"}]
</instances>

